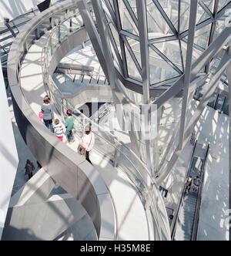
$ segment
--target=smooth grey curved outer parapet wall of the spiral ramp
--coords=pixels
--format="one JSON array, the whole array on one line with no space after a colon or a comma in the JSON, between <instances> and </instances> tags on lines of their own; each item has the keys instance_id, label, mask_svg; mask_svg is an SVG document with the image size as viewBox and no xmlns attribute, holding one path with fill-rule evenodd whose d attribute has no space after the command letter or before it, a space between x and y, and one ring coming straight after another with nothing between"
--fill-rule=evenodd
<instances>
[{"instance_id":1,"label":"smooth grey curved outer parapet wall of the spiral ramp","mask_svg":"<svg viewBox=\"0 0 231 256\"><path fill-rule=\"evenodd\" d=\"M56 17L58 14L60 21L69 14L73 15L75 11L76 1L66 1L65 5L59 3L37 15L25 25L24 32L15 39L8 55L8 81L12 90L15 119L28 148L42 164L44 170L82 203L92 218L99 239L114 240L115 217L112 199L98 171L78 153L66 147L56 140L52 133L49 133L27 103L18 83L20 63L29 45L32 45L32 42L44 33L40 29L40 27L43 28L42 23L52 19L55 13ZM47 28L49 29L49 26ZM107 204L105 200L102 202L102 194L107 196L104 197ZM107 213L106 216L105 213ZM110 228L107 227L107 223L110 223Z\"/></svg>"}]
</instances>

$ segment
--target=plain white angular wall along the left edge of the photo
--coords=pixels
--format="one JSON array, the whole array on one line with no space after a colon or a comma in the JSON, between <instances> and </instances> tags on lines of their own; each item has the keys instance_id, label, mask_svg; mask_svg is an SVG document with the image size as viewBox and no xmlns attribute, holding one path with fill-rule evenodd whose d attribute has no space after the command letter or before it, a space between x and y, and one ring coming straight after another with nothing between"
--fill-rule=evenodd
<instances>
[{"instance_id":1,"label":"plain white angular wall along the left edge of the photo","mask_svg":"<svg viewBox=\"0 0 231 256\"><path fill-rule=\"evenodd\" d=\"M0 240L18 167L18 153L0 62Z\"/></svg>"}]
</instances>

